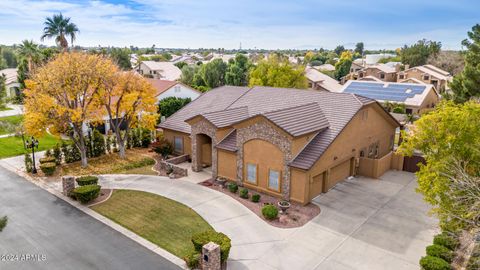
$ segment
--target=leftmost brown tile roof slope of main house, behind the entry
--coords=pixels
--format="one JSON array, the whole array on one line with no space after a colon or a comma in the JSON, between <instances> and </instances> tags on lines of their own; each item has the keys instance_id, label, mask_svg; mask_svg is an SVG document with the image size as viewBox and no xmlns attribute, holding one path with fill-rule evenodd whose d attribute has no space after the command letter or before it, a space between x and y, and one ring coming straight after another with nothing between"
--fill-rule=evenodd
<instances>
[{"instance_id":1,"label":"leftmost brown tile roof slope of main house, behind the entry","mask_svg":"<svg viewBox=\"0 0 480 270\"><path fill-rule=\"evenodd\" d=\"M159 127L190 133L190 125L185 122L186 119L202 113L225 110L248 90L248 87L239 86L222 86L210 90L168 117Z\"/></svg>"}]
</instances>

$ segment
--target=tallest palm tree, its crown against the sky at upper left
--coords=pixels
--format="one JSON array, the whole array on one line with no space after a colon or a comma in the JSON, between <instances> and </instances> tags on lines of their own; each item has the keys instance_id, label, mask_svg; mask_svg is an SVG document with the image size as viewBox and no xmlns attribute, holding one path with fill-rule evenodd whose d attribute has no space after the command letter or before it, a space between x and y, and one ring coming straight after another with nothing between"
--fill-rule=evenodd
<instances>
[{"instance_id":1,"label":"tallest palm tree, its crown against the sky at upper left","mask_svg":"<svg viewBox=\"0 0 480 270\"><path fill-rule=\"evenodd\" d=\"M70 37L71 44L76 38L77 33L80 32L78 27L70 22L70 18L63 17L62 13L54 14L51 18L45 20L45 27L43 28L43 35L41 40L45 38L55 38L55 43L62 47L64 51L67 50L68 41L67 37Z\"/></svg>"}]
</instances>

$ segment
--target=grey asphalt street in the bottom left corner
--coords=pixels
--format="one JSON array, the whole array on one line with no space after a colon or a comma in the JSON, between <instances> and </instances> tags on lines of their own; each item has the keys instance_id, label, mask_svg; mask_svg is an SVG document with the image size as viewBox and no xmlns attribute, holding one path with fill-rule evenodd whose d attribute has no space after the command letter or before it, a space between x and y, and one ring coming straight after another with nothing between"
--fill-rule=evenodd
<instances>
[{"instance_id":1,"label":"grey asphalt street in the bottom left corner","mask_svg":"<svg viewBox=\"0 0 480 270\"><path fill-rule=\"evenodd\" d=\"M0 232L2 270L178 269L0 166L0 216L4 215L9 221ZM40 260L20 261L20 256L27 254L39 256Z\"/></svg>"}]
</instances>

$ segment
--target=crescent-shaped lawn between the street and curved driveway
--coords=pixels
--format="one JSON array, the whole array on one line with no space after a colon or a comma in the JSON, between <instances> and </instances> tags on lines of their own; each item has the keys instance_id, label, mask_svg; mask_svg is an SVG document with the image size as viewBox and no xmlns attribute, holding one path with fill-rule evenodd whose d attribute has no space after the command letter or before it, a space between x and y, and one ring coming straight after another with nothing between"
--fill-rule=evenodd
<instances>
[{"instance_id":1,"label":"crescent-shaped lawn between the street and curved driveway","mask_svg":"<svg viewBox=\"0 0 480 270\"><path fill-rule=\"evenodd\" d=\"M114 190L91 208L180 258L193 250L193 234L213 230L191 208L143 191Z\"/></svg>"}]
</instances>

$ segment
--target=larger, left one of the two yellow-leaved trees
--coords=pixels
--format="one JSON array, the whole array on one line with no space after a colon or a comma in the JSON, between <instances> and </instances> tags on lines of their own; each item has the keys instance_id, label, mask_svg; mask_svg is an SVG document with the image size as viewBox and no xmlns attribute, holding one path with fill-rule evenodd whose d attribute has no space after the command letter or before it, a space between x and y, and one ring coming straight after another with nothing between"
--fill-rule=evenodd
<instances>
[{"instance_id":1,"label":"larger, left one of the two yellow-leaved trees","mask_svg":"<svg viewBox=\"0 0 480 270\"><path fill-rule=\"evenodd\" d=\"M87 166L83 127L99 117L95 98L115 84L116 74L118 68L106 57L59 54L26 81L26 131L37 136L46 130L67 134L80 151L82 166Z\"/></svg>"}]
</instances>

